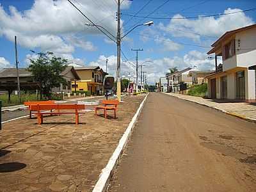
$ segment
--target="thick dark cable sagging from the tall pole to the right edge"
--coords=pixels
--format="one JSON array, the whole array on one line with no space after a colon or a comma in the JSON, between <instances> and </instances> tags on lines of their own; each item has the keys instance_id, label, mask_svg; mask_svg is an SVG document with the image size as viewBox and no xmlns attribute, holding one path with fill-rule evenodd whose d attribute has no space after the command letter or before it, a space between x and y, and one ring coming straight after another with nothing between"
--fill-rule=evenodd
<instances>
[{"instance_id":1,"label":"thick dark cable sagging from the tall pole to the right edge","mask_svg":"<svg viewBox=\"0 0 256 192\"><path fill-rule=\"evenodd\" d=\"M198 18L205 18L205 17L218 17L221 15L231 15L231 14L235 14L235 13L242 13L242 12L250 12L256 10L256 8L252 8L249 10L242 10L242 11L238 11L238 12L231 12L231 13L220 13L220 14L214 14L214 15L202 15L202 16L196 16L196 17L148 17L148 16L140 16L140 15L131 15L131 14L126 14L126 13L122 13L122 15L127 15L127 16L131 16L131 17L138 17L138 18L147 18L147 19L198 19Z\"/></svg>"}]
</instances>

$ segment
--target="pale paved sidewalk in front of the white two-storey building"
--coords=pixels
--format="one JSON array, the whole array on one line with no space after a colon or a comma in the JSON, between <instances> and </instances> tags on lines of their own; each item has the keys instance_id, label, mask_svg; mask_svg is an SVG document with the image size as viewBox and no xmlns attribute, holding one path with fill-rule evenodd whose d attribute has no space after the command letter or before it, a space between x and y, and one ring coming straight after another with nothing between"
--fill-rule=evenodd
<instances>
[{"instance_id":1,"label":"pale paved sidewalk in front of the white two-storey building","mask_svg":"<svg viewBox=\"0 0 256 192\"><path fill-rule=\"evenodd\" d=\"M246 102L224 102L223 100L217 101L212 99L204 99L202 97L195 97L190 95L182 95L177 93L165 93L173 97L196 102L204 106L218 109L229 115L237 116L246 120L256 122L256 105Z\"/></svg>"}]
</instances>

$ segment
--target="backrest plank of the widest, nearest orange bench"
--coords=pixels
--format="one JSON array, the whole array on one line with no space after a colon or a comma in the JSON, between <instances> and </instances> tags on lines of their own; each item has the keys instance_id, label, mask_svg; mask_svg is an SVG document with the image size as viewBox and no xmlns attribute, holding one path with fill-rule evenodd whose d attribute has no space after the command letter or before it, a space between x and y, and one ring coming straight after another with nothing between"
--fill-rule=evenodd
<instances>
[{"instance_id":1,"label":"backrest plank of the widest, nearest orange bench","mask_svg":"<svg viewBox=\"0 0 256 192\"><path fill-rule=\"evenodd\" d=\"M84 104L36 104L31 105L31 110L51 110L51 109L85 109Z\"/></svg>"}]
</instances>

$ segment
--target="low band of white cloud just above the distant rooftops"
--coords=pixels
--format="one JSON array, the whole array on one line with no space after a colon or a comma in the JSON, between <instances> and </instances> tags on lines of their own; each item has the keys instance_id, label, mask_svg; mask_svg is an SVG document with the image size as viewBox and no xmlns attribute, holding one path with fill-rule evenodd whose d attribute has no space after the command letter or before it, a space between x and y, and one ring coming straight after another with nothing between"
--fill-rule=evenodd
<instances>
[{"instance_id":1,"label":"low band of white cloud just above the distant rooftops","mask_svg":"<svg viewBox=\"0 0 256 192\"><path fill-rule=\"evenodd\" d=\"M104 71L106 70L106 59L108 58L108 73L116 76L116 56L104 56L101 55L96 61L90 62L90 66L100 66ZM143 63L144 61L152 60L151 58L145 58L145 60L139 60L138 63ZM219 63L221 61L218 61ZM132 64L131 64L132 63ZM136 75L135 71L136 61L131 60L130 63L122 61L121 63L121 76L128 75L131 72L132 80ZM168 72L168 68L177 67L182 70L186 67L193 68L196 66L198 70L213 70L215 67L214 60L209 60L208 56L203 52L199 51L189 51L183 57L173 56L165 57L157 60L152 60L150 63L145 63L143 71L147 71L147 83L154 84L159 80L159 77L165 76ZM140 81L140 68L138 70L138 79Z\"/></svg>"}]
</instances>

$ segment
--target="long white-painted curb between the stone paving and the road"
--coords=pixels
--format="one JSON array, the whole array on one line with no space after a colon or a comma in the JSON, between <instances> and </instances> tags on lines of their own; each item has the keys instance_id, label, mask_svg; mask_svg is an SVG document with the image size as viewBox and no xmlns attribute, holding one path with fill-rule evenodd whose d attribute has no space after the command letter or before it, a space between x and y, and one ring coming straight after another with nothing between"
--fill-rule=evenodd
<instances>
[{"instance_id":1,"label":"long white-painted curb between the stone paving and the road","mask_svg":"<svg viewBox=\"0 0 256 192\"><path fill-rule=\"evenodd\" d=\"M130 124L128 125L127 129L125 130L122 138L120 139L118 146L115 149L115 152L110 157L108 164L102 170L99 180L97 181L97 183L95 184L95 186L93 188L93 192L104 192L108 189L108 184L109 184L111 177L113 175L113 172L116 168L118 159L122 155L124 148L127 145L129 138L131 137L132 129L134 128L135 122L141 113L141 109L143 108L143 105L144 105L147 97L148 97L148 94L141 102L140 107L136 111L135 115L132 117L132 120L131 120Z\"/></svg>"}]
</instances>

